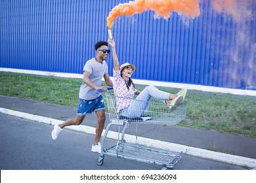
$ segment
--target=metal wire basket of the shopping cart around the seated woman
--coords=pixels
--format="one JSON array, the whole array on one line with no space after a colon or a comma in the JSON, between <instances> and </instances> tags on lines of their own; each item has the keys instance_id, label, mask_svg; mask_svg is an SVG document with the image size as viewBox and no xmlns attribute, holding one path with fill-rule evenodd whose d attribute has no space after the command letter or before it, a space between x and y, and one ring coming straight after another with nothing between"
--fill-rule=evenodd
<instances>
[{"instance_id":1,"label":"metal wire basket of the shopping cart around the seated woman","mask_svg":"<svg viewBox=\"0 0 256 183\"><path fill-rule=\"evenodd\" d=\"M170 108L165 103L161 102L148 102L148 101L139 101L136 99L127 99L123 97L116 97L113 92L106 92L104 95L104 99L107 103L107 110L110 116L110 120L119 121L119 120L127 120L128 122L133 123L146 123L146 124L167 124L167 125L175 125L184 118L186 118L186 101L184 101L181 105L174 106ZM116 109L116 100L131 100L130 102L143 103L144 106L148 105L146 110L139 108L133 108L133 110L129 110L129 113L133 114L133 116L137 116L136 118L124 118L120 112L117 112ZM150 118L150 119L148 119Z\"/></svg>"}]
</instances>

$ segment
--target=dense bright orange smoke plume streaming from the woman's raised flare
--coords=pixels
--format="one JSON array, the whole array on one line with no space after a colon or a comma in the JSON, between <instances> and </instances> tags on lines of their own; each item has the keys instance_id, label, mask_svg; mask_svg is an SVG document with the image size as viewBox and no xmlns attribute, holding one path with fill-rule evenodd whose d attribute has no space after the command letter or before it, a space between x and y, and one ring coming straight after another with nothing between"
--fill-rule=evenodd
<instances>
[{"instance_id":1,"label":"dense bright orange smoke plume streaming from the woman's raised flare","mask_svg":"<svg viewBox=\"0 0 256 183\"><path fill-rule=\"evenodd\" d=\"M199 2L200 0L135 0L129 3L119 3L112 8L108 15L108 29L114 23L114 20L119 16L133 16L140 14L146 10L153 10L156 16L168 19L172 11L179 14L184 14L188 17L196 17L200 15Z\"/></svg>"}]
</instances>

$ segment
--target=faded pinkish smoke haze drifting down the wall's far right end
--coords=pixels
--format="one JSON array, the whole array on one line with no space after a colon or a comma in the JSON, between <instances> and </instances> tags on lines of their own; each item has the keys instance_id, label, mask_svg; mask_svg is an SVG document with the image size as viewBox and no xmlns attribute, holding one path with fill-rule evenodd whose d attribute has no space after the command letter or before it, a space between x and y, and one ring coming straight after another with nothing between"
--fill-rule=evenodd
<instances>
[{"instance_id":1,"label":"faded pinkish smoke haze drifting down the wall's far right end","mask_svg":"<svg viewBox=\"0 0 256 183\"><path fill-rule=\"evenodd\" d=\"M229 34L234 36L234 43L226 47L226 51L219 53L227 56L228 68L224 70L227 74L222 82L230 84L230 87L242 89L255 89L256 74L256 40L253 37L255 27L252 22L255 21L253 6L255 0L212 0L212 7L223 16L230 16L234 27L230 29ZM224 43L224 46L226 46ZM244 74L241 74L244 73Z\"/></svg>"}]
</instances>

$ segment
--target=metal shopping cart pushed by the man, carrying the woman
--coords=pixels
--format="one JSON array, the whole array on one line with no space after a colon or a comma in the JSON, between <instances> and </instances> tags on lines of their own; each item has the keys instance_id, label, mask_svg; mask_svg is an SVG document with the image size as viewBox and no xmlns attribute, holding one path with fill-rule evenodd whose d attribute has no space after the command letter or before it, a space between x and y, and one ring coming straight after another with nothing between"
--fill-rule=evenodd
<instances>
[{"instance_id":1,"label":"metal shopping cart pushed by the man, carrying the woman","mask_svg":"<svg viewBox=\"0 0 256 183\"><path fill-rule=\"evenodd\" d=\"M131 100L131 102L144 103L148 105L147 110L135 108L131 110L131 115L137 116L136 118L127 118L122 116L121 112L116 110L117 100ZM161 124L161 125L175 125L186 117L186 101L181 105L169 108L169 106L154 101L152 98L150 102L138 101L136 99L127 99L116 97L113 90L108 90L104 93L104 101L106 101L106 111L110 117L110 124L106 127L106 131L100 141L101 153L96 159L97 165L102 165L104 162L104 155L116 156L117 158L133 159L145 163L155 163L156 165L163 166L161 169L173 169L173 167L181 160L182 152L173 152L170 150L163 150L161 148L154 148L152 146L145 146L142 144L126 142L125 131L131 124ZM140 106L140 105L138 105ZM139 116L139 117L138 117ZM105 140L110 131L110 127L118 126L117 143L110 148L104 148ZM120 127L123 129L120 132ZM121 138L120 138L121 135ZM136 135L137 139L137 135Z\"/></svg>"}]
</instances>

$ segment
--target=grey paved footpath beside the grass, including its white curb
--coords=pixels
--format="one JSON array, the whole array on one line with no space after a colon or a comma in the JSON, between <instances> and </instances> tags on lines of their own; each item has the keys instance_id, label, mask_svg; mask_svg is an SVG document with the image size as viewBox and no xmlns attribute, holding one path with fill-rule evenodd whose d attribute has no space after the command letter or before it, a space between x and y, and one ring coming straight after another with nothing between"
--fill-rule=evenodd
<instances>
[{"instance_id":1,"label":"grey paved footpath beside the grass, including its white curb","mask_svg":"<svg viewBox=\"0 0 256 183\"><path fill-rule=\"evenodd\" d=\"M75 111L76 108L72 107L0 95L0 112L51 125L74 117ZM109 124L109 119L106 120L107 124ZM91 114L86 116L82 125L73 126L71 129L94 134L95 126L96 115ZM135 135L135 127L136 125L131 125L126 132L127 138L131 138L131 141L134 141L132 138ZM117 131L117 128L114 127L111 130ZM177 152L182 151L184 154L234 165L256 167L255 138L177 125L138 125L137 135L139 136L138 142L142 144L168 148Z\"/></svg>"}]
</instances>

